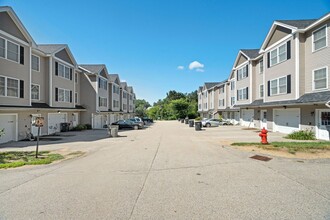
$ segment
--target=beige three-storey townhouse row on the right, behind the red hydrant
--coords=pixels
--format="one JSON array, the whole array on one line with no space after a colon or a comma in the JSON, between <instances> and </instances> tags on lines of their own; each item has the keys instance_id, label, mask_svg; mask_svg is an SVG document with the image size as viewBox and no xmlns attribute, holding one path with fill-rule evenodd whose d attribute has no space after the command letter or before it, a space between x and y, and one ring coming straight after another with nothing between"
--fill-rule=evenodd
<instances>
[{"instance_id":1,"label":"beige three-storey townhouse row on the right, behind the red hydrant","mask_svg":"<svg viewBox=\"0 0 330 220\"><path fill-rule=\"evenodd\" d=\"M329 25L330 13L274 21L260 49L239 51L224 86L226 108L237 111L220 114L274 132L312 129L329 140ZM201 113L203 102L199 96Z\"/></svg>"}]
</instances>

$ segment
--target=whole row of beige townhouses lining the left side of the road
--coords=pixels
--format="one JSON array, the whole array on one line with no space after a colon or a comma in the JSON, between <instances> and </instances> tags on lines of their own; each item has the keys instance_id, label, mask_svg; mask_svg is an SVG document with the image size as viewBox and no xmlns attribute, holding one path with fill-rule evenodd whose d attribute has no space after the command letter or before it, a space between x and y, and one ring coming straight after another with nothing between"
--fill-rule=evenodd
<instances>
[{"instance_id":1,"label":"whole row of beige townhouses lining the left side of the road","mask_svg":"<svg viewBox=\"0 0 330 220\"><path fill-rule=\"evenodd\" d=\"M78 67L66 44L37 44L11 7L0 7L0 21L0 143L37 135L36 117L44 118L41 135L60 132L61 123L104 128L117 120L118 75L105 65Z\"/></svg>"}]
</instances>

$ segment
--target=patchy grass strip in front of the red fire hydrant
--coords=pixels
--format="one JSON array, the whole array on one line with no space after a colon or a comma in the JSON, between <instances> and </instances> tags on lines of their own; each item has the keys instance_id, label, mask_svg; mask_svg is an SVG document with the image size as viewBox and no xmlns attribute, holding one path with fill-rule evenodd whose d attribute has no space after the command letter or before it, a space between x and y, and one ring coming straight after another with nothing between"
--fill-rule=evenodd
<instances>
[{"instance_id":1,"label":"patchy grass strip in front of the red fire hydrant","mask_svg":"<svg viewBox=\"0 0 330 220\"><path fill-rule=\"evenodd\" d=\"M255 146L269 150L286 149L289 153L296 153L298 151L316 152L317 150L330 150L329 141L319 142L272 142L270 144L261 144L255 142L237 142L232 143L232 146Z\"/></svg>"}]
</instances>

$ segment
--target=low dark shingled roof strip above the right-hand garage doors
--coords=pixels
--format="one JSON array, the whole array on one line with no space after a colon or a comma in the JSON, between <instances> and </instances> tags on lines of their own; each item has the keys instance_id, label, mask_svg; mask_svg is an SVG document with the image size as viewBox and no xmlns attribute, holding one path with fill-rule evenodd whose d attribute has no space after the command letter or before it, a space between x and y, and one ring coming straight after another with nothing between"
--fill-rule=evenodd
<instances>
[{"instance_id":1,"label":"low dark shingled roof strip above the right-hand garage doors","mask_svg":"<svg viewBox=\"0 0 330 220\"><path fill-rule=\"evenodd\" d=\"M248 105L237 105L238 107L259 107L259 106L283 106L283 105L302 105L313 103L326 103L330 100L330 91L307 93L297 100L264 102L262 99L255 100Z\"/></svg>"}]
</instances>

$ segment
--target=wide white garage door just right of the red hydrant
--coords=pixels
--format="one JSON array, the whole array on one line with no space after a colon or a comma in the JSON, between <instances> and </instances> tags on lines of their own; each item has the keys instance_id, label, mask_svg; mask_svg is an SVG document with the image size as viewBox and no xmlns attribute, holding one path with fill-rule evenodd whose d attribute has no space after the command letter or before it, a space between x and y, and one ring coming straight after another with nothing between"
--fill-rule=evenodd
<instances>
[{"instance_id":1,"label":"wide white garage door just right of the red hydrant","mask_svg":"<svg viewBox=\"0 0 330 220\"><path fill-rule=\"evenodd\" d=\"M289 134L299 130L299 109L276 109L274 110L274 131Z\"/></svg>"}]
</instances>

